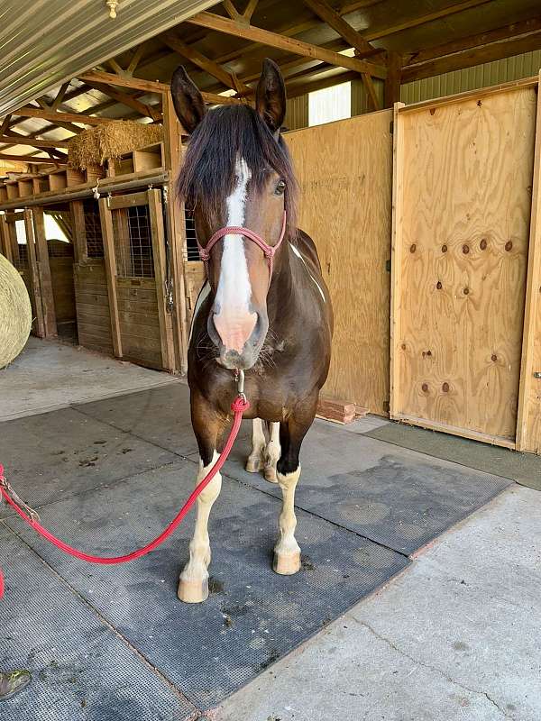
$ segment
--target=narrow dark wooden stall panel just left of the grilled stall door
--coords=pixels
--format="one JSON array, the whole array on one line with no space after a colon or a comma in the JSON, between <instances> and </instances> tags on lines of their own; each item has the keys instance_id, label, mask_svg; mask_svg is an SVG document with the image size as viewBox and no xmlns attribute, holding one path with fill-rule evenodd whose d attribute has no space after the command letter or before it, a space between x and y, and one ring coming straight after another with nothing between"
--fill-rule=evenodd
<instances>
[{"instance_id":1,"label":"narrow dark wooden stall panel just left of the grilled stall door","mask_svg":"<svg viewBox=\"0 0 541 721\"><path fill-rule=\"evenodd\" d=\"M71 213L78 342L92 351L113 355L99 207L93 199L76 200Z\"/></svg>"}]
</instances>

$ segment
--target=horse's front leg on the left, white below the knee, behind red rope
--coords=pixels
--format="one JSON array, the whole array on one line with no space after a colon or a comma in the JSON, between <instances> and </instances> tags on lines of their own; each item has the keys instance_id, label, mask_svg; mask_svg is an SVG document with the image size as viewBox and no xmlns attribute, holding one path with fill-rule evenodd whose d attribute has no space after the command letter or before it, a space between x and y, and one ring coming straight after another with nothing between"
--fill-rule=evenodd
<instances>
[{"instance_id":1,"label":"horse's front leg on the left, white below the knee, behind red rope","mask_svg":"<svg viewBox=\"0 0 541 721\"><path fill-rule=\"evenodd\" d=\"M191 415L194 433L199 447L199 470L197 483L215 465L219 458L216 447L225 428L225 418L218 415L206 399L196 392L191 394ZM189 543L189 561L182 570L178 596L185 603L200 603L208 597L208 565L210 564L210 540L208 537L208 516L215 499L220 495L222 475L214 479L197 497L196 528Z\"/></svg>"}]
</instances>

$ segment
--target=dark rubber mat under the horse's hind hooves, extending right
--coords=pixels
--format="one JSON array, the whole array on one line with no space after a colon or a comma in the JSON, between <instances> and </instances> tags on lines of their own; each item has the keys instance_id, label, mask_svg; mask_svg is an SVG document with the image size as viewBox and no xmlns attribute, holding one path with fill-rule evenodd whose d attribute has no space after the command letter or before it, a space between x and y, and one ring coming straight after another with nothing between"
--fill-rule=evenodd
<instances>
[{"instance_id":1,"label":"dark rubber mat under the horse's hind hooves, extending right","mask_svg":"<svg viewBox=\"0 0 541 721\"><path fill-rule=\"evenodd\" d=\"M249 450L246 440L235 443L225 472L279 497L276 484L243 470ZM407 554L512 483L317 421L300 460L298 507Z\"/></svg>"}]
</instances>

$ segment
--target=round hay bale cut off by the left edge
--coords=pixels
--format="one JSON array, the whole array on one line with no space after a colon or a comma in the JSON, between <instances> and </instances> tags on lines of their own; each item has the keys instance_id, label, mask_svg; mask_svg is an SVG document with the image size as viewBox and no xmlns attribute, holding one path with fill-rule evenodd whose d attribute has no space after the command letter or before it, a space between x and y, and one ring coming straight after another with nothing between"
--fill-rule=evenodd
<instances>
[{"instance_id":1,"label":"round hay bale cut off by the left edge","mask_svg":"<svg viewBox=\"0 0 541 721\"><path fill-rule=\"evenodd\" d=\"M32 307L23 278L0 254L0 368L23 350L32 326Z\"/></svg>"}]
</instances>

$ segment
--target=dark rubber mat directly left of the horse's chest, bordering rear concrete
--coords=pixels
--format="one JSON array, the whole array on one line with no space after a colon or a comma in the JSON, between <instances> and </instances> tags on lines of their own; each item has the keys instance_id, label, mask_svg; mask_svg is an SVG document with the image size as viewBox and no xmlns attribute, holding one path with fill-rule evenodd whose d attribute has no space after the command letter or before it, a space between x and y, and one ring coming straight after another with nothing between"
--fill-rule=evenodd
<instances>
[{"instance_id":1,"label":"dark rubber mat directly left of the horse's chest, bordering rear concrete","mask_svg":"<svg viewBox=\"0 0 541 721\"><path fill-rule=\"evenodd\" d=\"M74 407L180 455L197 451L189 414L189 388L184 383Z\"/></svg>"}]
</instances>

